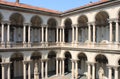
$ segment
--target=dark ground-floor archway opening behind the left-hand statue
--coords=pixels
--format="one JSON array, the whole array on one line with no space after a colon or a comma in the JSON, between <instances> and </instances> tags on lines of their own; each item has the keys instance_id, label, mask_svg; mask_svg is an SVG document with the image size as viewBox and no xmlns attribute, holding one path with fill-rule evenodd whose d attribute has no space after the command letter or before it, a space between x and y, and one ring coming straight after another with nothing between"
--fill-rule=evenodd
<instances>
[{"instance_id":1,"label":"dark ground-floor archway opening behind the left-hand statue","mask_svg":"<svg viewBox=\"0 0 120 79\"><path fill-rule=\"evenodd\" d=\"M41 75L41 53L38 52L38 51L35 51L32 53L31 55L31 74L32 74L32 78L34 78L34 68L35 68L35 64L37 63L37 67L38 67L38 71L39 71L39 74Z\"/></svg>"}]
</instances>

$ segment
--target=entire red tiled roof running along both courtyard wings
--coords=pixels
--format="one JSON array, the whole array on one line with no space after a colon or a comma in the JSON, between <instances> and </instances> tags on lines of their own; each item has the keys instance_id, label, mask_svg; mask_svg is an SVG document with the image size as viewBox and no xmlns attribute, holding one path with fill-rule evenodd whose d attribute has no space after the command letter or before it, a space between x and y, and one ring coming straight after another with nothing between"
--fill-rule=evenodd
<instances>
[{"instance_id":1,"label":"entire red tiled roof running along both courtyard wings","mask_svg":"<svg viewBox=\"0 0 120 79\"><path fill-rule=\"evenodd\" d=\"M78 7L78 8L74 8L74 9L65 11L63 13L68 13L68 12L76 11L76 10L83 9L83 8L86 8L86 7L91 7L91 6L99 5L101 3L105 3L105 2L108 2L108 1L109 0L100 0L98 2L89 3L87 5L84 5L84 6L81 6L81 7ZM9 5L9 6L15 6L15 7L21 7L21 8L27 8L27 9L40 10L40 11L50 12L50 13L55 13L55 14L61 14L62 13L62 12L59 12L59 11L50 10L50 9L46 9L46 8L35 7L35 6L26 5L26 4L22 4L22 3L0 1L0 4Z\"/></svg>"}]
</instances>

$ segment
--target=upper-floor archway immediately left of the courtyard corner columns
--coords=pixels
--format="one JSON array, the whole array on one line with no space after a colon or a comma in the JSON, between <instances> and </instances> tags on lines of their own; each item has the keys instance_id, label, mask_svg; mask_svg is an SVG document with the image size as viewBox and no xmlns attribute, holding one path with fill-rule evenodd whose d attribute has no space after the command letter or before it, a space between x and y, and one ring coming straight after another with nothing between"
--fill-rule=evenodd
<instances>
[{"instance_id":1,"label":"upper-floor archway immediately left of the courtyard corner columns","mask_svg":"<svg viewBox=\"0 0 120 79\"><path fill-rule=\"evenodd\" d=\"M54 18L50 18L47 22L48 24L48 42L56 42L56 28L57 21Z\"/></svg>"}]
</instances>

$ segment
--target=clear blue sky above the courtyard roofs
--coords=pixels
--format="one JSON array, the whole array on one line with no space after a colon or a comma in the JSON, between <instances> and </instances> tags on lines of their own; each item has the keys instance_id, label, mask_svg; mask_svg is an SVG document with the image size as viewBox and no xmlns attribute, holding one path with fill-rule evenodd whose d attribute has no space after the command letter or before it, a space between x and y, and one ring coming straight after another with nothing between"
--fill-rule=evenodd
<instances>
[{"instance_id":1,"label":"clear blue sky above the courtyard roofs","mask_svg":"<svg viewBox=\"0 0 120 79\"><path fill-rule=\"evenodd\" d=\"M16 0L7 1L15 2ZM97 1L99 0L20 0L20 3L63 12Z\"/></svg>"}]
</instances>

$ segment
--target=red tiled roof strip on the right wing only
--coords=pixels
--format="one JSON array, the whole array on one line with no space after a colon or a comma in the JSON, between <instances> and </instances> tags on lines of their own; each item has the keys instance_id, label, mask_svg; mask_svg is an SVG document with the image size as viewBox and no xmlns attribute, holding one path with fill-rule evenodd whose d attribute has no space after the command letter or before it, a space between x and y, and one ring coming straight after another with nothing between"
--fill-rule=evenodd
<instances>
[{"instance_id":1,"label":"red tiled roof strip on the right wing only","mask_svg":"<svg viewBox=\"0 0 120 79\"><path fill-rule=\"evenodd\" d=\"M86 4L86 5L84 5L84 6L80 6L80 7L78 7L78 8L74 8L74 9L71 9L71 10L67 10L67 11L65 11L65 12L63 12L63 13L68 13L68 12L76 11L76 10L83 9L83 8L86 8L86 7L91 7L91 6L99 5L99 4L101 4L101 3L105 3L105 2L108 2L108 1L110 1L110 0L100 0L100 1L98 1L98 2L89 3L89 4Z\"/></svg>"}]
</instances>

